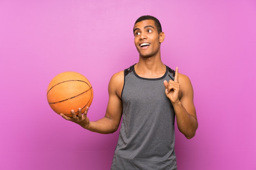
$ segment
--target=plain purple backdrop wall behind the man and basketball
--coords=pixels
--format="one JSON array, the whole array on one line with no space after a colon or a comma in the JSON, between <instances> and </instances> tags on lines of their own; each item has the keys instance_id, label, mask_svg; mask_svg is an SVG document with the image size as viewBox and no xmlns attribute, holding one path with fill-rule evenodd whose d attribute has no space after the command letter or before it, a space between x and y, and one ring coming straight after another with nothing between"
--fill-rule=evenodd
<instances>
[{"instance_id":1,"label":"plain purple backdrop wall behind the man and basketball","mask_svg":"<svg viewBox=\"0 0 256 170\"><path fill-rule=\"evenodd\" d=\"M0 170L109 170L119 130L101 135L54 113L50 80L76 71L105 115L110 77L138 62L132 28L154 15L163 62L188 75L199 128L176 128L179 170L256 170L255 0L0 0Z\"/></svg>"}]
</instances>

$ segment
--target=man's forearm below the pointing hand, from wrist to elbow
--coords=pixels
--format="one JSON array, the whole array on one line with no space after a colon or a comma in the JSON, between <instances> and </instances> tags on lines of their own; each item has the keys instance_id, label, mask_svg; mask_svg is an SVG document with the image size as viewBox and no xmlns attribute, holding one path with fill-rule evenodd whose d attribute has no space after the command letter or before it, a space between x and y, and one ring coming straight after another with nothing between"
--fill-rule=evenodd
<instances>
[{"instance_id":1,"label":"man's forearm below the pointing hand, from wrist to elbow","mask_svg":"<svg viewBox=\"0 0 256 170\"><path fill-rule=\"evenodd\" d=\"M186 138L191 139L195 136L195 131L198 128L197 119L187 112L181 102L173 104L173 108L180 132L182 132Z\"/></svg>"}]
</instances>

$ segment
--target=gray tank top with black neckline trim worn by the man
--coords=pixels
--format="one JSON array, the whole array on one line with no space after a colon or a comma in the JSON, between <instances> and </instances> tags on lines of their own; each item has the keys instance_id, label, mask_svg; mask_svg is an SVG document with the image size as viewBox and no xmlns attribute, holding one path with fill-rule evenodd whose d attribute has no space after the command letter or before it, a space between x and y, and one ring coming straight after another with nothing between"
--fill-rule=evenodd
<instances>
[{"instance_id":1,"label":"gray tank top with black neckline trim worn by the man","mask_svg":"<svg viewBox=\"0 0 256 170\"><path fill-rule=\"evenodd\" d=\"M174 75L168 66L156 79L139 77L134 65L124 71L123 121L111 170L177 169L175 113L164 88Z\"/></svg>"}]
</instances>

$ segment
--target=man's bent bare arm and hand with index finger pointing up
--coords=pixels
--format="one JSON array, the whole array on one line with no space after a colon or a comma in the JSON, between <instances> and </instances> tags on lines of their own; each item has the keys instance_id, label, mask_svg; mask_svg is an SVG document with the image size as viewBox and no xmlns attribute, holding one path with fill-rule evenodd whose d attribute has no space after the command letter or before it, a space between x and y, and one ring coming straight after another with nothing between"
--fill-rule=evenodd
<instances>
[{"instance_id":1,"label":"man's bent bare arm and hand with index finger pointing up","mask_svg":"<svg viewBox=\"0 0 256 170\"><path fill-rule=\"evenodd\" d=\"M198 121L193 102L193 87L189 77L178 73L176 68L175 79L164 81L166 96L171 100L176 115L177 126L186 138L195 136Z\"/></svg>"}]
</instances>

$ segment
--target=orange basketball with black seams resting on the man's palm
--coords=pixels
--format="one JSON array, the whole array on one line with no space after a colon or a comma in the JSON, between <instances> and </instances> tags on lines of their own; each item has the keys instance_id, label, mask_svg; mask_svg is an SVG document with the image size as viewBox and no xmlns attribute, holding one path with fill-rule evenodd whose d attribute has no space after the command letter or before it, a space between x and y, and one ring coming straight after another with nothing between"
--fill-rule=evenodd
<instances>
[{"instance_id":1,"label":"orange basketball with black seams resting on the man's palm","mask_svg":"<svg viewBox=\"0 0 256 170\"><path fill-rule=\"evenodd\" d=\"M63 72L56 75L47 88L47 100L52 110L72 117L71 110L78 115L92 104L92 85L86 77L76 72Z\"/></svg>"}]
</instances>

